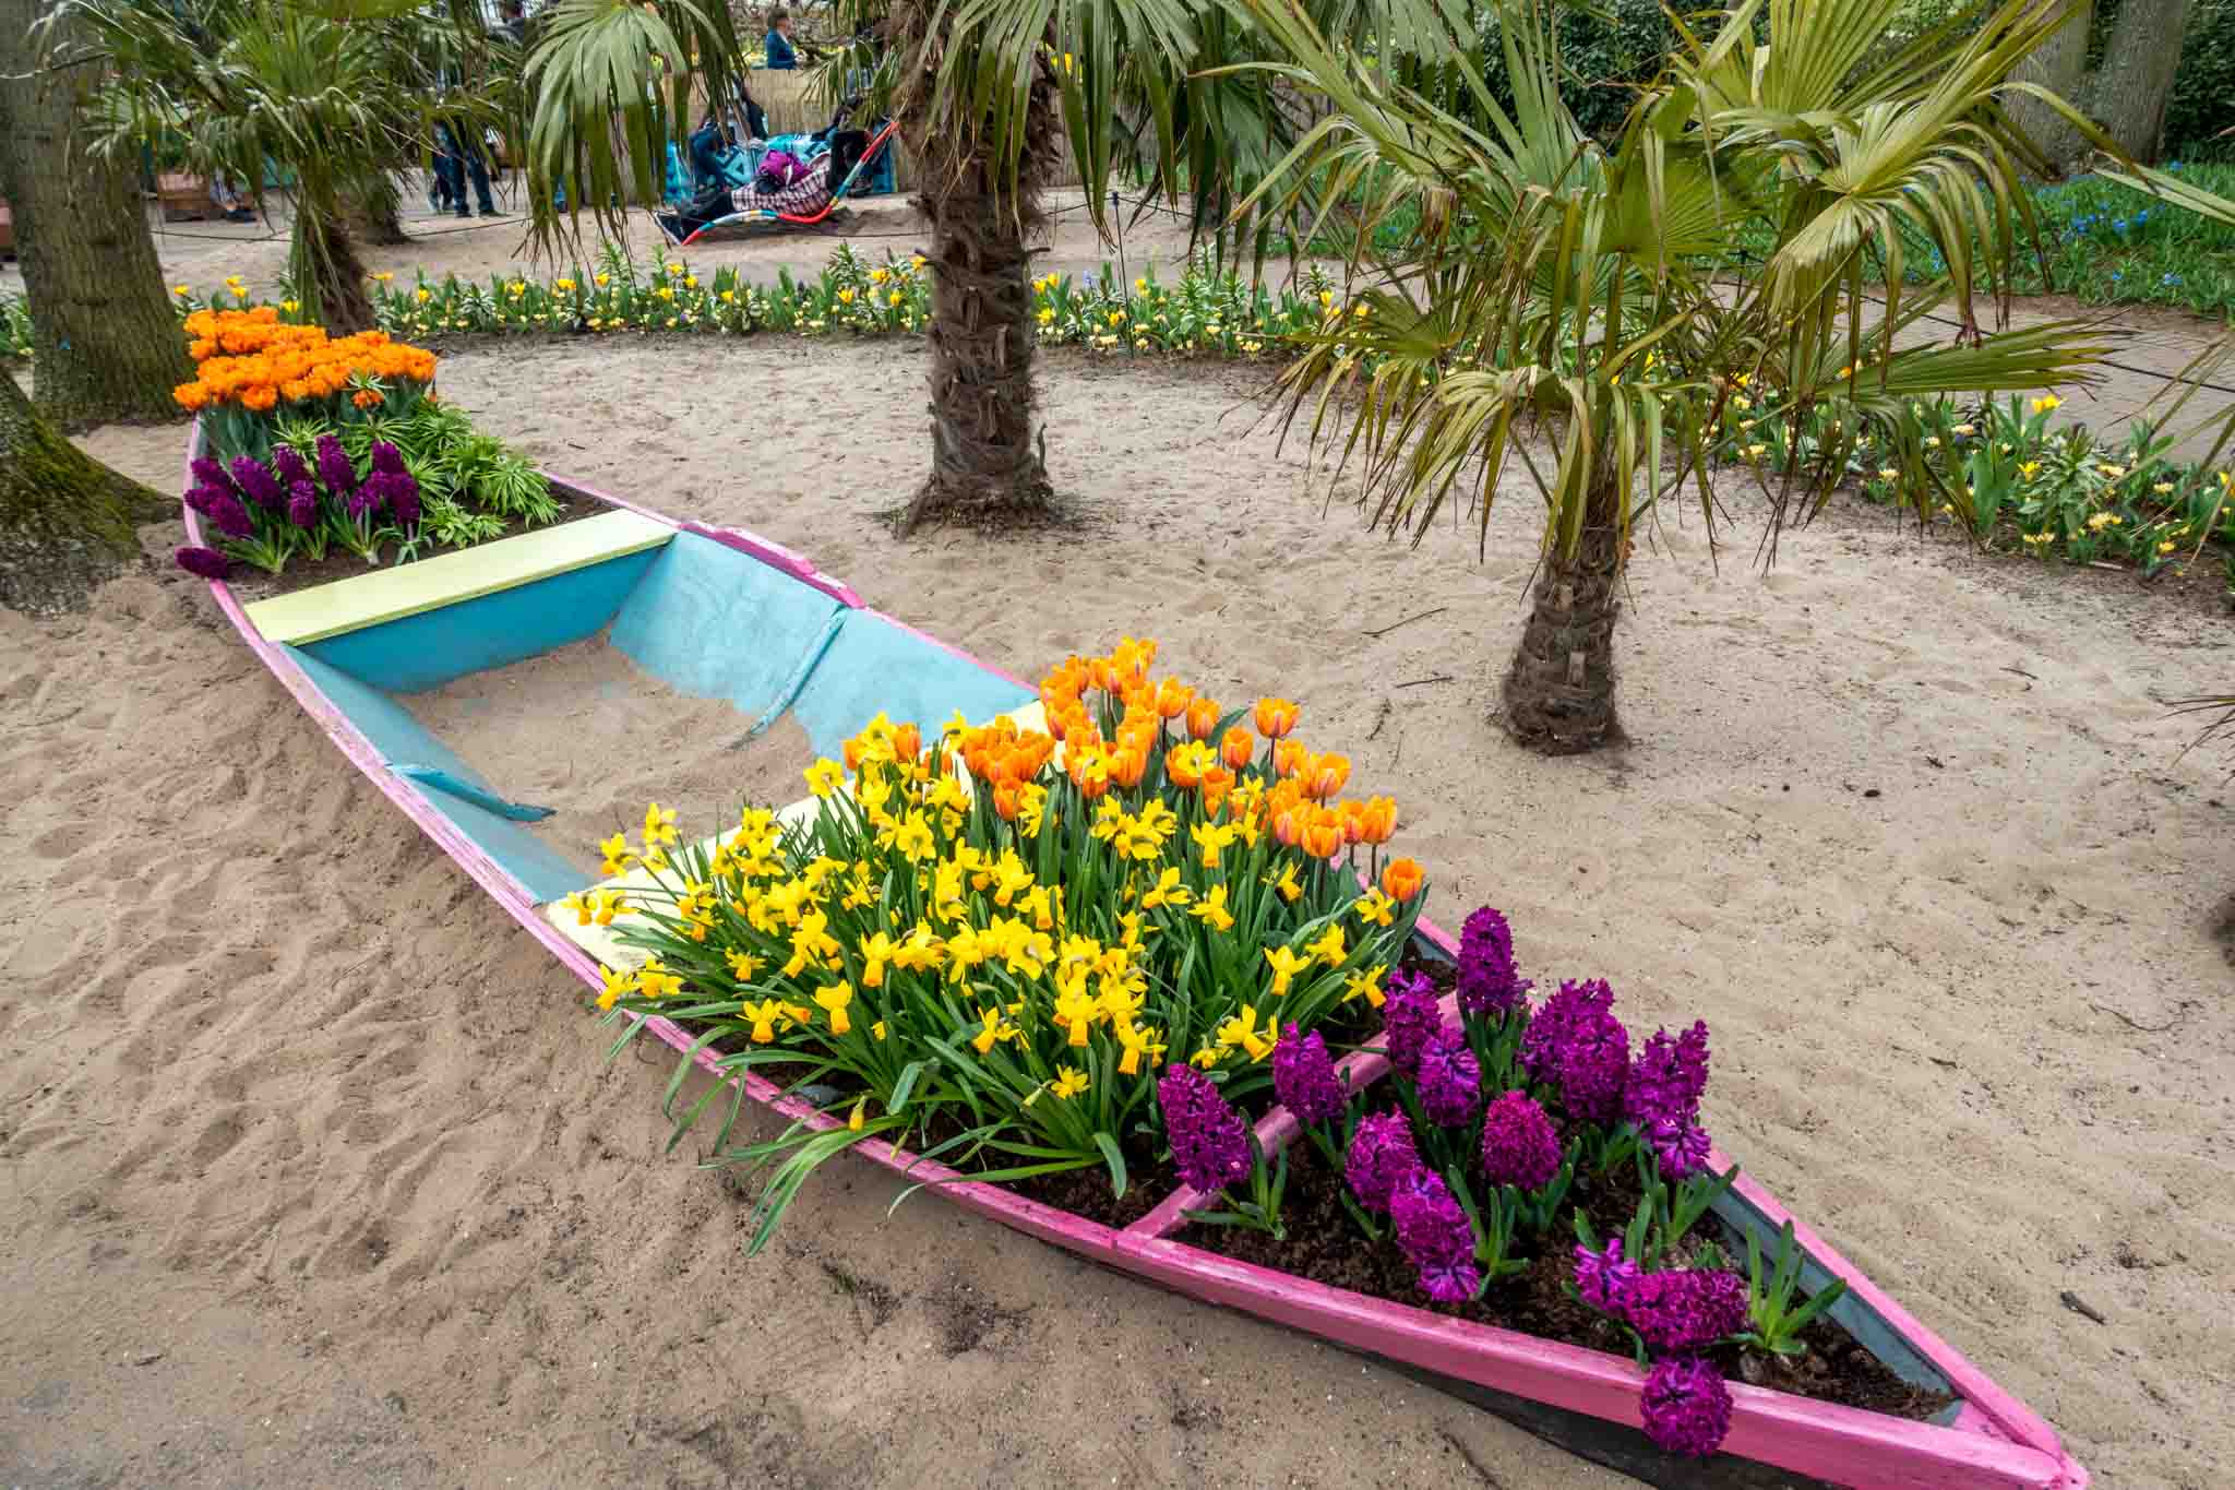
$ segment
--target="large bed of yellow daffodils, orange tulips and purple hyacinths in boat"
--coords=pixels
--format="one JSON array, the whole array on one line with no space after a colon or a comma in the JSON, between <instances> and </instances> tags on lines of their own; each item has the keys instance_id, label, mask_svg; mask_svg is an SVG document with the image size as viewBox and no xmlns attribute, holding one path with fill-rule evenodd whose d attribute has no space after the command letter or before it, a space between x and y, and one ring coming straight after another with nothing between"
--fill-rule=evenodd
<instances>
[{"instance_id":1,"label":"large bed of yellow daffodils, orange tulips and purple hyacinths in boat","mask_svg":"<svg viewBox=\"0 0 2235 1490\"><path fill-rule=\"evenodd\" d=\"M1598 981L1531 1001L1493 909L1451 967L1410 956L1395 804L1341 800L1350 766L1296 742L1294 704L1245 724L1151 663L1066 661L1046 730L881 717L805 773L814 813L746 806L686 847L653 804L601 844L635 889L568 907L646 961L606 967L599 1007L840 1119L758 1144L724 1121L720 1162L773 1168L755 1247L869 1137L1111 1226L1151 1226L1126 1197L1169 1166L1155 1211L1198 1244L1632 1354L1676 1454L1721 1443L1725 1372L1947 1407L1822 1318L1837 1284L1801 1298L1790 1231L1708 1220L1737 1168L1708 1164L1705 1025L1634 1043Z\"/></svg>"}]
</instances>

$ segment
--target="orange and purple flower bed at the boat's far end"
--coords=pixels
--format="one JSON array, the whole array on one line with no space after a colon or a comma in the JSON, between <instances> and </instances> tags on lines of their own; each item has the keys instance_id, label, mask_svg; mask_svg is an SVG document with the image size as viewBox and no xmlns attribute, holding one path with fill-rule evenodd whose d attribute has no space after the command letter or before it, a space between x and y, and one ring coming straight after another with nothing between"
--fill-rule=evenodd
<instances>
[{"instance_id":1,"label":"orange and purple flower bed at the boat's far end","mask_svg":"<svg viewBox=\"0 0 2235 1490\"><path fill-rule=\"evenodd\" d=\"M346 561L409 563L563 516L543 474L438 402L434 353L384 331L335 340L270 306L183 324L197 375L177 400L208 440L186 503L217 543L179 550L181 567L293 565L320 583Z\"/></svg>"}]
</instances>

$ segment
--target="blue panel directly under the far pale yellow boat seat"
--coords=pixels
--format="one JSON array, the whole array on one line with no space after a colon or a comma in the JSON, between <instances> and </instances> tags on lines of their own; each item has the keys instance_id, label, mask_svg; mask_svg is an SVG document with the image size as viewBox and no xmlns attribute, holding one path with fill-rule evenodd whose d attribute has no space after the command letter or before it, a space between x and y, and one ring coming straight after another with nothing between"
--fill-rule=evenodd
<instances>
[{"instance_id":1,"label":"blue panel directly under the far pale yellow boat seat","mask_svg":"<svg viewBox=\"0 0 2235 1490\"><path fill-rule=\"evenodd\" d=\"M456 605L313 641L302 655L387 688L425 693L606 630L666 547L624 554ZM805 585L802 585L805 588Z\"/></svg>"}]
</instances>

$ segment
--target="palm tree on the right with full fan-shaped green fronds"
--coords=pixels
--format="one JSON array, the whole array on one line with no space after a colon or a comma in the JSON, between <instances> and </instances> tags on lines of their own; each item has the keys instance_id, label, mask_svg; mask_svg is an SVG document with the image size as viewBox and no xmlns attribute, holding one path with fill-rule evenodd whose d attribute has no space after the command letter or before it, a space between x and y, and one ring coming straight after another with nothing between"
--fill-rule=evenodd
<instances>
[{"instance_id":1,"label":"palm tree on the right with full fan-shaped green fronds","mask_svg":"<svg viewBox=\"0 0 2235 1490\"><path fill-rule=\"evenodd\" d=\"M1379 281L1287 369L1287 418L1312 411L1312 440L1357 460L1361 503L1390 529L1426 529L1464 500L1486 541L1509 460L1527 469L1544 532L1504 722L1533 748L1618 737L1611 637L1632 536L1685 483L1714 532L1710 449L1748 389L1837 420L1768 471L1772 554L1864 438L1909 471L1920 514L1965 503L1936 487L1909 400L2072 382L2105 348L2079 322L1978 326L2016 228L2032 230L2020 172L2043 161L2007 105L2027 92L2014 69L2061 22L2038 0L1891 51L1900 0L1739 0L1712 36L1681 31L1611 147L1560 103L1538 4L1500 11L1511 109L1464 51L1453 60L1462 116L1390 85L1299 0L1247 2L1294 58L1276 71L1332 105L1283 190L1368 183L1352 270ZM1419 232L1377 250L1372 228L1399 212ZM1944 279L1904 284L1904 230L1944 257ZM1759 273L1719 275L1741 237L1763 243ZM1902 335L1949 302L1956 344ZM1540 458L1529 436L1551 449Z\"/></svg>"}]
</instances>

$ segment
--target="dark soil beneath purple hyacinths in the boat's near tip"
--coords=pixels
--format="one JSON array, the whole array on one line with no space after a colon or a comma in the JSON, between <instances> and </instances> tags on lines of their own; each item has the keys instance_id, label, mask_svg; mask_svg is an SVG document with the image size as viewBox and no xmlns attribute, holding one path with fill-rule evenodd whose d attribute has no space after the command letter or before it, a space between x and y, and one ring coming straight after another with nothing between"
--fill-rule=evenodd
<instances>
[{"instance_id":1,"label":"dark soil beneath purple hyacinths in the boat's near tip","mask_svg":"<svg viewBox=\"0 0 2235 1490\"><path fill-rule=\"evenodd\" d=\"M1287 1240L1274 1242L1263 1231L1238 1226L1189 1226L1180 1240L1216 1251L1236 1262L1254 1262L1283 1273L1296 1273L1312 1282L1323 1282L1352 1293L1368 1293L1433 1314L1448 1314L1477 1325L1500 1325L1544 1340L1562 1340L1587 1349L1602 1349L1616 1356L1629 1354L1629 1340L1605 1318L1571 1300L1564 1282L1573 1276L1567 1247L1535 1258L1527 1273L1518 1273L1491 1287L1473 1305L1433 1305L1421 1296L1413 1267L1397 1251L1397 1242L1368 1242L1359 1235L1350 1213L1341 1202L1341 1175L1328 1171L1325 1159L1312 1144L1290 1148L1287 1197L1283 1220ZM1578 1191L1576 1204L1591 1215L1600 1235L1627 1224L1634 1211L1632 1200L1616 1193L1594 1195ZM1911 1387L1900 1376L1877 1363L1871 1351L1855 1343L1844 1329L1828 1320L1817 1320L1808 1334L1808 1354L1786 1360L1761 1363L1754 1356L1741 1367L1739 1347L1716 1351L1714 1360L1734 1381L1754 1381L1763 1387L1813 1396L1826 1403L1866 1407L1900 1419L1929 1419L1951 1398Z\"/></svg>"}]
</instances>

